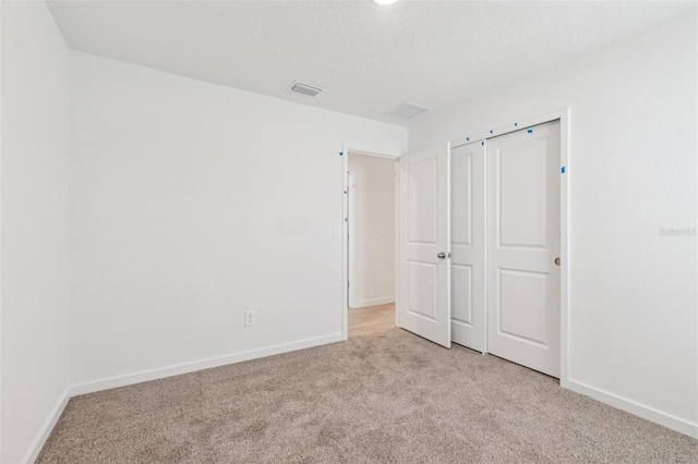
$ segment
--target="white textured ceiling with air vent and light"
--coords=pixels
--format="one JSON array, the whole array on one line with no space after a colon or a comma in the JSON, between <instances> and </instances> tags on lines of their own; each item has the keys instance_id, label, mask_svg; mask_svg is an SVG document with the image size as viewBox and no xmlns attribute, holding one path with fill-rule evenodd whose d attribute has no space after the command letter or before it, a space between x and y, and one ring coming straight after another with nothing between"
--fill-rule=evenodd
<instances>
[{"instance_id":1,"label":"white textured ceiling with air vent and light","mask_svg":"<svg viewBox=\"0 0 698 464\"><path fill-rule=\"evenodd\" d=\"M695 2L49 1L69 46L364 118L442 109L575 60ZM300 80L323 87L296 95ZM419 119L417 117L416 119Z\"/></svg>"}]
</instances>

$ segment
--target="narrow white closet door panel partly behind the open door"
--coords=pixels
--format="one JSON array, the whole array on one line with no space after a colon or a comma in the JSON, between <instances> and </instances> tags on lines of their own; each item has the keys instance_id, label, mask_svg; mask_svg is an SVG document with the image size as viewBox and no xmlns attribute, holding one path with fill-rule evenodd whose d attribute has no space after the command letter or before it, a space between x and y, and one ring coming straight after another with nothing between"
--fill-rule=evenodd
<instances>
[{"instance_id":1,"label":"narrow white closet door panel partly behind the open door","mask_svg":"<svg viewBox=\"0 0 698 464\"><path fill-rule=\"evenodd\" d=\"M454 343L485 351L485 204L481 142L450 150L450 321Z\"/></svg>"}]
</instances>

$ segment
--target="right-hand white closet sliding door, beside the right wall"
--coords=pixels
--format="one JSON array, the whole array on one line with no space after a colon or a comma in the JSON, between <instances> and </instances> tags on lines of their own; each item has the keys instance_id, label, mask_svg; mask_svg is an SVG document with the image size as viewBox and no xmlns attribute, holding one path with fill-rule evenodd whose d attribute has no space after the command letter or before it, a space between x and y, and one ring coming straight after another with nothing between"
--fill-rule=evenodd
<instances>
[{"instance_id":1,"label":"right-hand white closet sliding door, beside the right wall","mask_svg":"<svg viewBox=\"0 0 698 464\"><path fill-rule=\"evenodd\" d=\"M486 151L488 352L559 377L559 122Z\"/></svg>"}]
</instances>

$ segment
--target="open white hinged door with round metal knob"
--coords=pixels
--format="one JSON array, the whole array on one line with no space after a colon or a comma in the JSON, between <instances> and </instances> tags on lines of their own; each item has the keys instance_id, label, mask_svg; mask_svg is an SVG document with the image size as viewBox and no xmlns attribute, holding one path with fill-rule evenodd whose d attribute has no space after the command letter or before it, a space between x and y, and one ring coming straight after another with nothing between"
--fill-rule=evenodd
<instances>
[{"instance_id":1,"label":"open white hinged door with round metal knob","mask_svg":"<svg viewBox=\"0 0 698 464\"><path fill-rule=\"evenodd\" d=\"M450 150L400 158L398 323L450 347Z\"/></svg>"}]
</instances>

